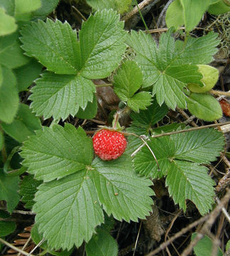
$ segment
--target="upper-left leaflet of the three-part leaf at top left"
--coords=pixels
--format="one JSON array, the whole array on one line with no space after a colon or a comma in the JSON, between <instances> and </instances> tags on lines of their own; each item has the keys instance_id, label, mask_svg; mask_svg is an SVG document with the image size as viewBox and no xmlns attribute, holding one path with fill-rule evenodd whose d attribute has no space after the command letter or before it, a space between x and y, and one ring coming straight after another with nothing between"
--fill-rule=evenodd
<instances>
[{"instance_id":1,"label":"upper-left leaflet of the three-part leaf at top left","mask_svg":"<svg viewBox=\"0 0 230 256\"><path fill-rule=\"evenodd\" d=\"M80 70L80 45L70 24L61 21L29 23L21 30L23 50L57 74L77 74Z\"/></svg>"}]
</instances>

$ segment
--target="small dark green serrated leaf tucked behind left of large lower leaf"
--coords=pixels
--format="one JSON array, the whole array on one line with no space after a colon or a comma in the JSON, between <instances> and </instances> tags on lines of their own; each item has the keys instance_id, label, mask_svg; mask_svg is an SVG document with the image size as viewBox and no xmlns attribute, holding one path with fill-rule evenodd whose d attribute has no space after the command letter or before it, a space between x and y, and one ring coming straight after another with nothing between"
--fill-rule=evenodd
<instances>
[{"instance_id":1,"label":"small dark green serrated leaf tucked behind left of large lower leaf","mask_svg":"<svg viewBox=\"0 0 230 256\"><path fill-rule=\"evenodd\" d=\"M26 203L24 205L25 208L31 209L35 193L38 191L38 186L42 183L42 181L36 181L32 175L25 176L20 186L20 195L22 196L21 201Z\"/></svg>"}]
</instances>

